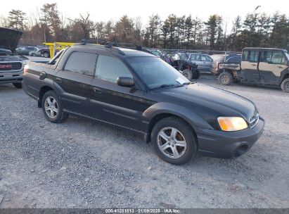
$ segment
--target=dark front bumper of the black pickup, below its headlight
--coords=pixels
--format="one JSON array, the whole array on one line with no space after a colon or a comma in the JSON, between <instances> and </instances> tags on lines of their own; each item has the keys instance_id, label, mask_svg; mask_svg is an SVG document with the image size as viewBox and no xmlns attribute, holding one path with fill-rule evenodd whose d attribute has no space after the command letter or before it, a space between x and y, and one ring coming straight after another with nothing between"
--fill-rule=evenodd
<instances>
[{"instance_id":1,"label":"dark front bumper of the black pickup, below its headlight","mask_svg":"<svg viewBox=\"0 0 289 214\"><path fill-rule=\"evenodd\" d=\"M259 118L255 127L238 132L198 128L195 132L198 137L199 153L215 158L237 158L247 152L259 139L264 130L264 124L264 120Z\"/></svg>"}]
</instances>

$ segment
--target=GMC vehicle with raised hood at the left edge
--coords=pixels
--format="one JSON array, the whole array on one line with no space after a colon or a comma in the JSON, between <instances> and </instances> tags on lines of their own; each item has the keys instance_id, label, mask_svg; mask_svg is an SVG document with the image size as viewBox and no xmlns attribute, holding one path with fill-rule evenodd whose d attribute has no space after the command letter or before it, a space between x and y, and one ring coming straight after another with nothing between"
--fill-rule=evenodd
<instances>
[{"instance_id":1,"label":"GMC vehicle with raised hood at the left edge","mask_svg":"<svg viewBox=\"0 0 289 214\"><path fill-rule=\"evenodd\" d=\"M23 65L28 58L15 52L22 32L0 27L0 84L13 83L21 87Z\"/></svg>"}]
</instances>

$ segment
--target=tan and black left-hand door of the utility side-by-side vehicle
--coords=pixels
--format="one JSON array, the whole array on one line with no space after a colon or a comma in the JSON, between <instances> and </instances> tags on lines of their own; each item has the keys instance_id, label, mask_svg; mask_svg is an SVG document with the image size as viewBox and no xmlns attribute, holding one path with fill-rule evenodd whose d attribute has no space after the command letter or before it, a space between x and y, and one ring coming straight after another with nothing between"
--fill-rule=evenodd
<instances>
[{"instance_id":1,"label":"tan and black left-hand door of the utility side-by-side vehicle","mask_svg":"<svg viewBox=\"0 0 289 214\"><path fill-rule=\"evenodd\" d=\"M257 50L243 51L241 68L247 82L254 83L260 80L258 61L259 61L259 51Z\"/></svg>"}]
</instances>

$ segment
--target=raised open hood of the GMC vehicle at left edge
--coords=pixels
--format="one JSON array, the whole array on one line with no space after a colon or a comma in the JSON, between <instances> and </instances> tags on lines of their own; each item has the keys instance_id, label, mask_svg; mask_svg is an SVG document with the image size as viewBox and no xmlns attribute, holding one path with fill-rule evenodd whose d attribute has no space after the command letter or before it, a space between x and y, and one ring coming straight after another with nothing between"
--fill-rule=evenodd
<instances>
[{"instance_id":1,"label":"raised open hood of the GMC vehicle at left edge","mask_svg":"<svg viewBox=\"0 0 289 214\"><path fill-rule=\"evenodd\" d=\"M15 51L23 32L0 27L0 48Z\"/></svg>"}]
</instances>

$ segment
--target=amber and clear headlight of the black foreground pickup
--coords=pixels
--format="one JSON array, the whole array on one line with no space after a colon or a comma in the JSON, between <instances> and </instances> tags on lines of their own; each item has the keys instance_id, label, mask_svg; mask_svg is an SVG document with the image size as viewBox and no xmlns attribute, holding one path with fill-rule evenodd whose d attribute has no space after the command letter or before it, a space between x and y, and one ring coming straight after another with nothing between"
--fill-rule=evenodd
<instances>
[{"instance_id":1,"label":"amber and clear headlight of the black foreground pickup","mask_svg":"<svg viewBox=\"0 0 289 214\"><path fill-rule=\"evenodd\" d=\"M218 122L221 130L225 132L245 130L248 128L247 122L240 117L219 117Z\"/></svg>"}]
</instances>

